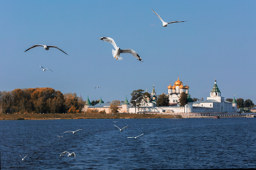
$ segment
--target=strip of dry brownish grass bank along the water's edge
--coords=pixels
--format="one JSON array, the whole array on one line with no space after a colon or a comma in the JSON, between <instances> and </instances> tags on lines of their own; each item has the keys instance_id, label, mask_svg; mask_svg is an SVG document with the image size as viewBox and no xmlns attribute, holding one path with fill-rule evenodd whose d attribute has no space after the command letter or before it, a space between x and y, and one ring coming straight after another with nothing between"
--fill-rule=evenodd
<instances>
[{"instance_id":1,"label":"strip of dry brownish grass bank along the water's edge","mask_svg":"<svg viewBox=\"0 0 256 170\"><path fill-rule=\"evenodd\" d=\"M111 114L1 114L0 120L56 120L56 119L120 119L120 118L181 118L173 115Z\"/></svg>"}]
</instances>

